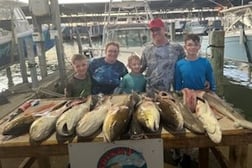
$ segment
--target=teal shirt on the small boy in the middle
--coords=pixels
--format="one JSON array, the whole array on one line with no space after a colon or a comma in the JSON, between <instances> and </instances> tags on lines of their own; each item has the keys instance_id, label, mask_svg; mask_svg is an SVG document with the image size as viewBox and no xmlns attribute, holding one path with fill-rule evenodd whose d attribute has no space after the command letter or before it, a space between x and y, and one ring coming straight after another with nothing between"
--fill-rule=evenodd
<instances>
[{"instance_id":1,"label":"teal shirt on the small boy in the middle","mask_svg":"<svg viewBox=\"0 0 252 168\"><path fill-rule=\"evenodd\" d=\"M143 74L126 74L120 82L120 92L121 93L131 93L144 92L145 91L146 80Z\"/></svg>"}]
</instances>

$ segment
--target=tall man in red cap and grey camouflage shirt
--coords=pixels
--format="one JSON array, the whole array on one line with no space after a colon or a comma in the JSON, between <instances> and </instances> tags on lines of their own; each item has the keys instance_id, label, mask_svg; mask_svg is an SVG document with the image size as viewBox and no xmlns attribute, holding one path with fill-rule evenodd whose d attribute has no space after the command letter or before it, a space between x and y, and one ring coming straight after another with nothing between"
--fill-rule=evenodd
<instances>
[{"instance_id":1,"label":"tall man in red cap and grey camouflage shirt","mask_svg":"<svg viewBox=\"0 0 252 168\"><path fill-rule=\"evenodd\" d=\"M145 47L142 57L142 72L146 70L146 92L153 96L156 90L170 91L173 84L175 63L185 56L179 44L171 44L166 36L166 27L160 18L150 21L152 43Z\"/></svg>"}]
</instances>

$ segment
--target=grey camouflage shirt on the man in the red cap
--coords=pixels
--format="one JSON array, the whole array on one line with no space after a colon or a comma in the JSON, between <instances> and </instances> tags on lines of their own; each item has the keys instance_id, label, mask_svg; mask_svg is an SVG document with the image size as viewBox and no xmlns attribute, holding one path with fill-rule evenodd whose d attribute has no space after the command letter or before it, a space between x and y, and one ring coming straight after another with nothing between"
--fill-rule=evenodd
<instances>
[{"instance_id":1,"label":"grey camouflage shirt on the man in the red cap","mask_svg":"<svg viewBox=\"0 0 252 168\"><path fill-rule=\"evenodd\" d=\"M175 63L185 56L179 44L166 43L161 46L146 46L141 57L142 72L145 71L146 92L170 91L175 73Z\"/></svg>"}]
</instances>

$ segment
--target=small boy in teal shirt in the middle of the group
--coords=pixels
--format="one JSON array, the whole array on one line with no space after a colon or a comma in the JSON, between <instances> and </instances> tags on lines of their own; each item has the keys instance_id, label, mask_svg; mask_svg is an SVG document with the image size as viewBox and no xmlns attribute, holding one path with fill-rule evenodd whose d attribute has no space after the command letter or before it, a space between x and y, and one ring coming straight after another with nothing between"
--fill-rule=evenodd
<instances>
[{"instance_id":1,"label":"small boy in teal shirt in the middle of the group","mask_svg":"<svg viewBox=\"0 0 252 168\"><path fill-rule=\"evenodd\" d=\"M135 92L144 92L146 80L144 75L140 72L141 61L137 55L131 55L128 58L128 67L131 70L130 73L126 74L118 88L116 88L114 93L131 93Z\"/></svg>"}]
</instances>

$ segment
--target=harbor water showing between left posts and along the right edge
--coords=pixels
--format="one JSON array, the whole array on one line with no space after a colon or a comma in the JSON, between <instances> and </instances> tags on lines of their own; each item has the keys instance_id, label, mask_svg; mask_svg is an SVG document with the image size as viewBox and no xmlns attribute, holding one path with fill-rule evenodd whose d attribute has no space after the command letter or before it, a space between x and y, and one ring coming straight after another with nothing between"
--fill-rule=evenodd
<instances>
[{"instance_id":1,"label":"harbor water showing between left posts and along the right edge","mask_svg":"<svg viewBox=\"0 0 252 168\"><path fill-rule=\"evenodd\" d=\"M177 40L181 41L181 37L177 37ZM95 45L99 45L96 43ZM65 62L70 65L70 58L73 54L78 53L78 45L76 42L65 42L64 44ZM48 73L52 73L57 70L57 55L55 48L52 48L46 53L48 63ZM36 61L38 63L38 61ZM66 66L69 67L69 66ZM21 83L21 74L19 72L19 66L12 66L12 75L15 84ZM225 61L224 76L227 79L227 83L224 86L224 98L235 108L242 110L245 117L252 121L252 79L249 75L249 65L242 62ZM28 72L29 73L29 72ZM39 73L39 69L38 69ZM38 75L40 79L40 76ZM29 77L29 82L31 79ZM6 78L5 71L0 71L0 91L8 88L8 80Z\"/></svg>"}]
</instances>

